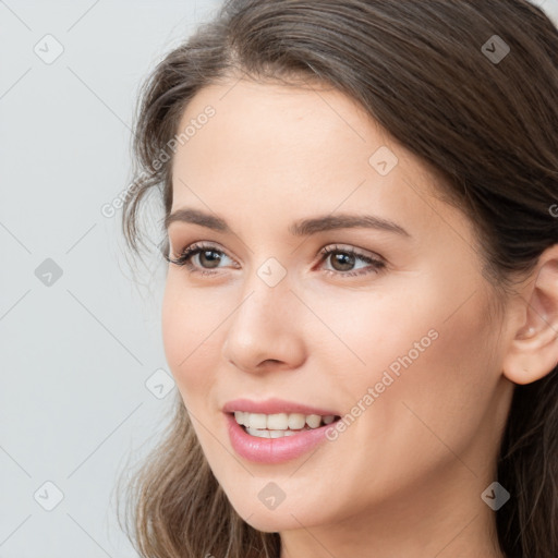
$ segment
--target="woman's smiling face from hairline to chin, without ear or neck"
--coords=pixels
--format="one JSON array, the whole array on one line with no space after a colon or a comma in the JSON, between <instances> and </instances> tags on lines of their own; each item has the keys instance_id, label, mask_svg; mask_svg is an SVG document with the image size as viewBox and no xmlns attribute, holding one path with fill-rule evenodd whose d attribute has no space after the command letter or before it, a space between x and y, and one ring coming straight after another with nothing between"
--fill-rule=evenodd
<instances>
[{"instance_id":1,"label":"woman's smiling face from hairline to chin, without ear or neck","mask_svg":"<svg viewBox=\"0 0 558 558\"><path fill-rule=\"evenodd\" d=\"M170 256L204 250L169 264L165 351L235 510L263 531L487 510L512 385L471 222L337 90L214 85L186 126Z\"/></svg>"}]
</instances>

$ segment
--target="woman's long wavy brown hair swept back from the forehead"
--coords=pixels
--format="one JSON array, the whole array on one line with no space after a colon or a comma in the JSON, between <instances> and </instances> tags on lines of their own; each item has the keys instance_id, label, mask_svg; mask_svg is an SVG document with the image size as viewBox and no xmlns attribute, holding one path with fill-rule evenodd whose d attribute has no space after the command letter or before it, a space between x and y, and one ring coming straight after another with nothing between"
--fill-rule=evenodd
<instances>
[{"instance_id":1,"label":"woman's long wavy brown hair swept back from the forehead","mask_svg":"<svg viewBox=\"0 0 558 558\"><path fill-rule=\"evenodd\" d=\"M494 35L510 49L499 61L486 51ZM185 107L205 86L239 76L312 81L357 101L442 179L440 196L474 225L495 292L512 292L517 277L558 243L549 209L558 201L558 29L539 8L526 0L230 0L143 85L135 182L122 210L133 252L144 244L145 195L155 191L170 213L172 157L161 165L161 154ZM514 386L495 464L511 493L496 512L509 558L558 556L557 433L558 366ZM128 489L124 529L142 557L279 557L279 534L250 526L228 501L180 397Z\"/></svg>"}]
</instances>

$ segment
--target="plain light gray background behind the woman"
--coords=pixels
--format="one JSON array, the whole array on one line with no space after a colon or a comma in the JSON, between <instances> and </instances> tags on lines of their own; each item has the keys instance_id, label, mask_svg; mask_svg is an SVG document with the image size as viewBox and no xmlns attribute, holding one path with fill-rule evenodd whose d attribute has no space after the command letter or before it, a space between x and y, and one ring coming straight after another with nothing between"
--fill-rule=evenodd
<instances>
[{"instance_id":1,"label":"plain light gray background behind the woman","mask_svg":"<svg viewBox=\"0 0 558 558\"><path fill-rule=\"evenodd\" d=\"M0 558L136 556L114 483L177 391L163 266L132 276L120 213L100 209L131 178L143 77L219 3L0 0Z\"/></svg>"}]
</instances>

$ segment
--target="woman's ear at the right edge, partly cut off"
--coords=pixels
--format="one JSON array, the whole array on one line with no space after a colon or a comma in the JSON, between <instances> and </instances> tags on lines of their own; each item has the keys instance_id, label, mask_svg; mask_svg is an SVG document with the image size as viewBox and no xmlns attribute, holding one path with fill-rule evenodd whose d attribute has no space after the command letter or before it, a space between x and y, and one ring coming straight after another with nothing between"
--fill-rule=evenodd
<instances>
[{"instance_id":1,"label":"woman's ear at the right edge, partly cut off","mask_svg":"<svg viewBox=\"0 0 558 558\"><path fill-rule=\"evenodd\" d=\"M558 244L541 255L518 300L502 369L514 384L531 384L558 365Z\"/></svg>"}]
</instances>

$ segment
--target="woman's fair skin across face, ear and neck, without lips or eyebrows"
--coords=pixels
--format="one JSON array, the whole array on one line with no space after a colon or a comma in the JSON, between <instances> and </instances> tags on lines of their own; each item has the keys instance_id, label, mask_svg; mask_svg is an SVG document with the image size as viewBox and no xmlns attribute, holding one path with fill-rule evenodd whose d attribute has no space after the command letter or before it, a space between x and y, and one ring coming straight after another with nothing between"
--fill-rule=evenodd
<instances>
[{"instance_id":1,"label":"woman's fair skin across face, ear and neck, without lips or eyebrows","mask_svg":"<svg viewBox=\"0 0 558 558\"><path fill-rule=\"evenodd\" d=\"M206 242L221 260L214 268L203 254L191 259L213 276L169 265L162 335L231 505L254 527L281 534L281 558L371 548L375 558L504 556L481 494L496 481L513 383L534 381L558 360L558 303L548 294L558 284L556 250L500 314L470 220L440 201L422 160L350 98L231 81L199 92L179 130L207 105L216 114L174 155L171 211L218 215L233 233L170 225L171 257ZM381 146L399 160L386 175L368 162ZM331 213L375 215L410 236L288 231L292 221ZM386 266L322 258L336 244ZM269 257L287 272L275 287L257 275ZM235 454L227 401L277 397L344 415L430 330L437 339L335 441L282 464ZM269 482L286 495L275 510L258 499Z\"/></svg>"}]
</instances>

